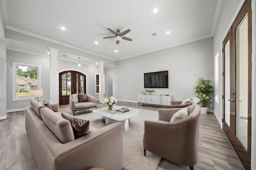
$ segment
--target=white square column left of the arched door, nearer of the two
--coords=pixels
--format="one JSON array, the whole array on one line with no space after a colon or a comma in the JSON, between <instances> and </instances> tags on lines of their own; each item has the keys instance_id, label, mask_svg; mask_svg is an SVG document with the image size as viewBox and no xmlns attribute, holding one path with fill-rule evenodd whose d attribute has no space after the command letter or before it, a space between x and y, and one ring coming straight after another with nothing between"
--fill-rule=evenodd
<instances>
[{"instance_id":1,"label":"white square column left of the arched door, nearer of the two","mask_svg":"<svg viewBox=\"0 0 256 170\"><path fill-rule=\"evenodd\" d=\"M57 72L57 54L59 49L50 49L50 103L59 103L59 76Z\"/></svg>"}]
</instances>

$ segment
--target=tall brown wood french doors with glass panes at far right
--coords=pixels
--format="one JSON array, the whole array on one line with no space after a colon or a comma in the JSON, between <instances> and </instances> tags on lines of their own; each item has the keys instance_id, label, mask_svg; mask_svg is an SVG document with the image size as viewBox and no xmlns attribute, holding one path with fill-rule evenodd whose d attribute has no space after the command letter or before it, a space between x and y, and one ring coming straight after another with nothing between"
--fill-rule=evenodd
<instances>
[{"instance_id":1,"label":"tall brown wood french doors with glass panes at far right","mask_svg":"<svg viewBox=\"0 0 256 170\"><path fill-rule=\"evenodd\" d=\"M251 0L246 0L223 41L223 129L246 170L251 169L251 54Z\"/></svg>"}]
</instances>

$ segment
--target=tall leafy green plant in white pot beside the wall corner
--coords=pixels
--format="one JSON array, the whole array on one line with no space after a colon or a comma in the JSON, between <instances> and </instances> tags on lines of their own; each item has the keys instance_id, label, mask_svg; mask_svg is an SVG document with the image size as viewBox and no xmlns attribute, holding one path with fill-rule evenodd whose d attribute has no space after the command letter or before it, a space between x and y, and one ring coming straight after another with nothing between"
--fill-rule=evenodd
<instances>
[{"instance_id":1,"label":"tall leafy green plant in white pot beside the wall corner","mask_svg":"<svg viewBox=\"0 0 256 170\"><path fill-rule=\"evenodd\" d=\"M207 114L208 107L210 107L211 104L211 97L214 94L212 80L199 78L194 90L195 94L197 94L197 97L200 99L201 114Z\"/></svg>"}]
</instances>

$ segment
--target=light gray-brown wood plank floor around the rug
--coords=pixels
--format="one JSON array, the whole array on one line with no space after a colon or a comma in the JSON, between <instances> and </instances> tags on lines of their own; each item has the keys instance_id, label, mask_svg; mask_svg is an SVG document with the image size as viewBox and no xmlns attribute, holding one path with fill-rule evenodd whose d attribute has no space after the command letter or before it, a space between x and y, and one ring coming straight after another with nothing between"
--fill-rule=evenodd
<instances>
[{"instance_id":1,"label":"light gray-brown wood plank floor around the rug","mask_svg":"<svg viewBox=\"0 0 256 170\"><path fill-rule=\"evenodd\" d=\"M160 106L150 106L118 101L118 105L157 111ZM97 104L97 108L105 107ZM69 111L69 106L60 106L60 112ZM80 114L83 111L79 111ZM85 111L87 112L87 111ZM198 162L195 170L244 170L236 152L213 113L200 115ZM171 151L170 151L171 152ZM143 150L142 150L143 154ZM25 129L24 111L7 114L0 121L0 170L38 170ZM162 158L158 170L189 170Z\"/></svg>"}]
</instances>

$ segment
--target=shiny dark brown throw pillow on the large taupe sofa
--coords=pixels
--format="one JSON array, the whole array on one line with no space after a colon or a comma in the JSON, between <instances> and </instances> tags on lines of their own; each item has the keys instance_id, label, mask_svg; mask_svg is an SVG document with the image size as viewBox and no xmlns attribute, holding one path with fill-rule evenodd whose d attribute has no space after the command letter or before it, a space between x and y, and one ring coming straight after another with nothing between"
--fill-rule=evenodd
<instances>
[{"instance_id":1,"label":"shiny dark brown throw pillow on the large taupe sofa","mask_svg":"<svg viewBox=\"0 0 256 170\"><path fill-rule=\"evenodd\" d=\"M80 138L80 137L89 133L90 121L83 120L83 119L78 119L78 118L75 118L75 117L70 117L70 116L65 115L63 113L61 113L61 115L64 119L67 119L70 122L71 127L72 127L73 132L74 132L75 139Z\"/></svg>"}]
</instances>

